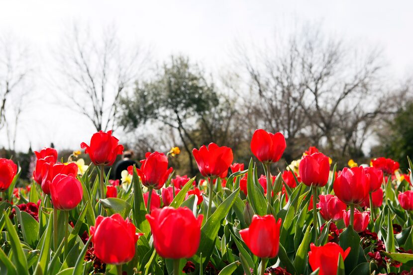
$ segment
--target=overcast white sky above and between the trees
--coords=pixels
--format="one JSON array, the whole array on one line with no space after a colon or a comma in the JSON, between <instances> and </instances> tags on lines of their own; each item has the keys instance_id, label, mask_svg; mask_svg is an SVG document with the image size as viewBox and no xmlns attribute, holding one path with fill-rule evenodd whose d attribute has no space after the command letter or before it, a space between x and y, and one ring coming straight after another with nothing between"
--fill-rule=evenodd
<instances>
[{"instance_id":1,"label":"overcast white sky above and between the trees","mask_svg":"<svg viewBox=\"0 0 413 275\"><path fill-rule=\"evenodd\" d=\"M17 149L34 150L54 142L57 149L80 149L93 125L78 113L56 106L45 85L51 52L76 22L94 31L115 24L124 43L140 41L155 59L183 53L208 70L223 68L234 42L263 45L276 32L306 22L360 47L383 48L395 78L413 69L413 1L386 0L0 0L0 34L11 33L30 45L38 62L36 99L22 115ZM122 138L120 137L122 142ZM6 133L0 132L0 147Z\"/></svg>"}]
</instances>

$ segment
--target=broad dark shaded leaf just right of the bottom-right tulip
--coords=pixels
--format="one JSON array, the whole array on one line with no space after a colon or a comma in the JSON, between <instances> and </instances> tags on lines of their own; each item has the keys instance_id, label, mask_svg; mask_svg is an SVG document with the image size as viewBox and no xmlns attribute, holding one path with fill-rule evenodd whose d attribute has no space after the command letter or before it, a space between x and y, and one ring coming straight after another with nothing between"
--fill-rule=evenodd
<instances>
[{"instance_id":1,"label":"broad dark shaded leaf just right of the bottom-right tulip","mask_svg":"<svg viewBox=\"0 0 413 275\"><path fill-rule=\"evenodd\" d=\"M343 250L350 247L350 253L344 261L346 273L349 274L357 266L360 250L360 237L351 225L341 233L340 246Z\"/></svg>"}]
</instances>

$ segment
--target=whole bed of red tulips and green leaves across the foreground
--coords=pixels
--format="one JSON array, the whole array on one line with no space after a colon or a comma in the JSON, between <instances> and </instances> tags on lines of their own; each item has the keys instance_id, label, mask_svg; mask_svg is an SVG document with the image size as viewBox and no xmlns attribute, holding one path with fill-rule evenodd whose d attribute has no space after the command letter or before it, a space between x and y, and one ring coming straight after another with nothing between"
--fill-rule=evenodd
<instances>
[{"instance_id":1,"label":"whole bed of red tulips and green leaves across the foreground","mask_svg":"<svg viewBox=\"0 0 413 275\"><path fill-rule=\"evenodd\" d=\"M283 134L258 129L249 163L210 143L180 176L173 148L116 181L111 131L81 148L88 165L35 152L28 185L0 159L0 275L413 275L410 159L337 167L310 147L287 165Z\"/></svg>"}]
</instances>

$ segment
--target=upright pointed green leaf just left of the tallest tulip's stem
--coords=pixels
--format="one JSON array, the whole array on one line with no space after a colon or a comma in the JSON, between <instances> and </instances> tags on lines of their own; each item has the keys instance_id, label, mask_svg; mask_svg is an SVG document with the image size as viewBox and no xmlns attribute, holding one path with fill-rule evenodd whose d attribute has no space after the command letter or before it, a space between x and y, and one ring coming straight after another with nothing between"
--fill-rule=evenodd
<instances>
[{"instance_id":1,"label":"upright pointed green leaf just left of the tallest tulip's stem","mask_svg":"<svg viewBox=\"0 0 413 275\"><path fill-rule=\"evenodd\" d=\"M254 209L254 212L257 215L264 216L267 214L267 202L264 197L264 194L258 190L257 185L254 183L253 177L254 177L254 170L253 169L253 162L252 158L251 161L249 162L248 166L248 177L247 177L247 191L248 191L248 201L252 206L252 209ZM260 185L262 188L262 186Z\"/></svg>"}]
</instances>

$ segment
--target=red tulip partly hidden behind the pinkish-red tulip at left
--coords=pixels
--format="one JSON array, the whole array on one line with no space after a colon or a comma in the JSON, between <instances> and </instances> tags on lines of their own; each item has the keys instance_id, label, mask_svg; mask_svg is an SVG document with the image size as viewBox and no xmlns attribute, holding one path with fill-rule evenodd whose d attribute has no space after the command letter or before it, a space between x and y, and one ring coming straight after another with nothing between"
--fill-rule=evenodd
<instances>
[{"instance_id":1,"label":"red tulip partly hidden behind the pinkish-red tulip at left","mask_svg":"<svg viewBox=\"0 0 413 275\"><path fill-rule=\"evenodd\" d=\"M46 194L50 194L49 185L53 181L54 177L57 174L63 175L77 175L78 174L78 165L76 163L69 163L68 165L64 165L61 162L56 164L53 163L45 163L42 166L42 190Z\"/></svg>"}]
</instances>

